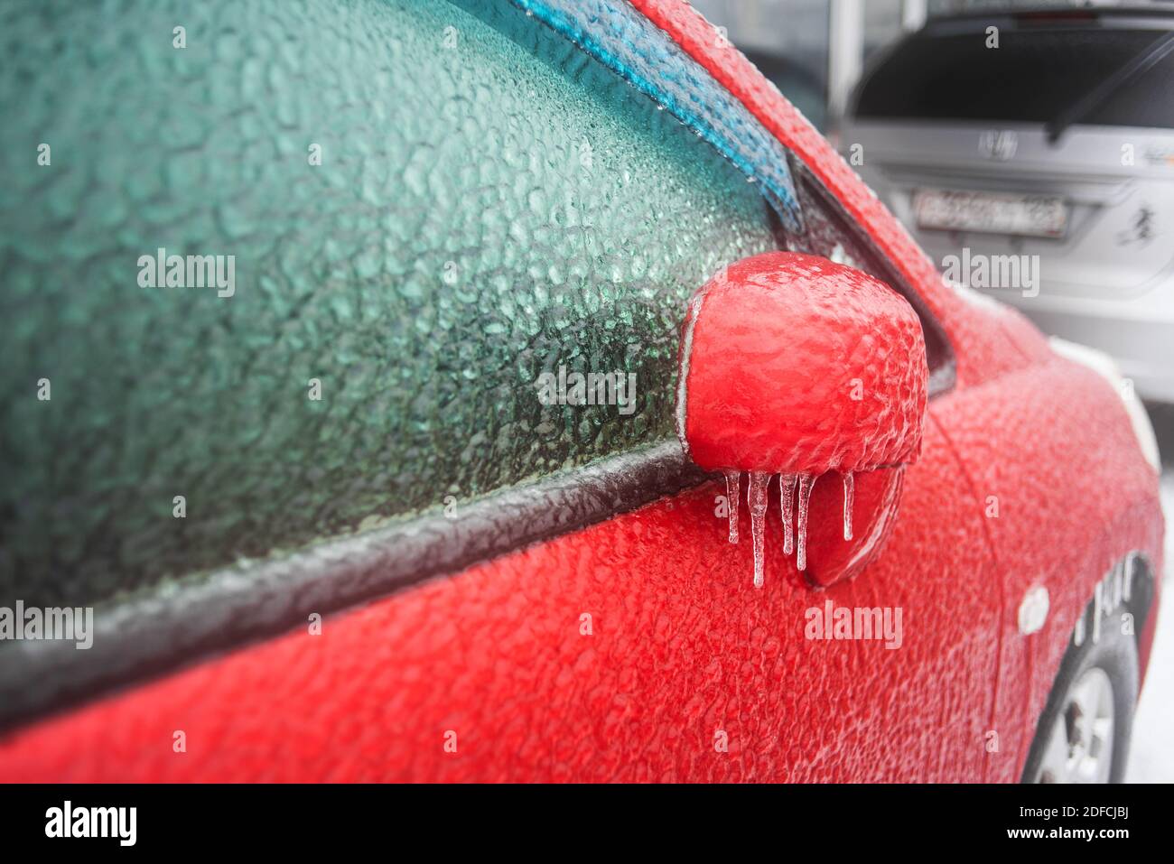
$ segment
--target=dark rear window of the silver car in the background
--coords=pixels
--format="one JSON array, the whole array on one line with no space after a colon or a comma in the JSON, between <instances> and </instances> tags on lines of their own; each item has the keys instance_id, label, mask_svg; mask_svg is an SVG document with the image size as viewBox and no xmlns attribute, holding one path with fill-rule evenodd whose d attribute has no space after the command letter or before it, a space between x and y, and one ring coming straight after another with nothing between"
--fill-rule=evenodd
<instances>
[{"instance_id":1,"label":"dark rear window of the silver car in the background","mask_svg":"<svg viewBox=\"0 0 1174 864\"><path fill-rule=\"evenodd\" d=\"M999 33L942 26L900 42L871 72L856 102L859 117L1048 122L1125 67L1162 35L1152 29L1048 28ZM1126 83L1080 122L1174 127L1167 59Z\"/></svg>"}]
</instances>

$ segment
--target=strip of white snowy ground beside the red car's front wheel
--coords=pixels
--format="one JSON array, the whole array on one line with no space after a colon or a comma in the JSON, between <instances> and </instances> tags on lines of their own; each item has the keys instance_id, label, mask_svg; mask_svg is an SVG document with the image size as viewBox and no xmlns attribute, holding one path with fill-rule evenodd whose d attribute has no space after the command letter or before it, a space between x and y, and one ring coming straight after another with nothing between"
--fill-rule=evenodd
<instances>
[{"instance_id":1,"label":"strip of white snowy ground beside the red car's front wheel","mask_svg":"<svg viewBox=\"0 0 1174 864\"><path fill-rule=\"evenodd\" d=\"M1133 747L1126 779L1131 783L1174 783L1174 441L1161 443L1167 461L1162 471L1162 509L1166 512L1166 580L1158 610L1149 673L1133 721Z\"/></svg>"}]
</instances>

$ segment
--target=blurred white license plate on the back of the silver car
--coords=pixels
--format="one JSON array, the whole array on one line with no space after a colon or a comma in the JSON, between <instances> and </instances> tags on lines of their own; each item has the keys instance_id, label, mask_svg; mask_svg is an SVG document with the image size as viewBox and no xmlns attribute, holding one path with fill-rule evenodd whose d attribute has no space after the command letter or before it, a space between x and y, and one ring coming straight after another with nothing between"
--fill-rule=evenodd
<instances>
[{"instance_id":1,"label":"blurred white license plate on the back of the silver car","mask_svg":"<svg viewBox=\"0 0 1174 864\"><path fill-rule=\"evenodd\" d=\"M1062 237L1068 228L1068 205L1047 195L917 189L913 215L918 228L944 231Z\"/></svg>"}]
</instances>

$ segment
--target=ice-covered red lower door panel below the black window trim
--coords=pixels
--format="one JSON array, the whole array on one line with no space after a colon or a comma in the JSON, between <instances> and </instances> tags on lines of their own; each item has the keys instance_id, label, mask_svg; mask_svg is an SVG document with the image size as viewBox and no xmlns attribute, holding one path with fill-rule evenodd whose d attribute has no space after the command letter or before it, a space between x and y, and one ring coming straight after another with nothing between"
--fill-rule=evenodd
<instances>
[{"instance_id":1,"label":"ice-covered red lower door panel below the black window trim","mask_svg":"<svg viewBox=\"0 0 1174 864\"><path fill-rule=\"evenodd\" d=\"M16 733L0 774L980 778L994 580L981 511L933 425L889 542L828 590L784 569L777 519L755 589L750 544L730 545L715 515L723 492L707 484ZM902 609L900 647L807 639L808 610L829 602Z\"/></svg>"}]
</instances>

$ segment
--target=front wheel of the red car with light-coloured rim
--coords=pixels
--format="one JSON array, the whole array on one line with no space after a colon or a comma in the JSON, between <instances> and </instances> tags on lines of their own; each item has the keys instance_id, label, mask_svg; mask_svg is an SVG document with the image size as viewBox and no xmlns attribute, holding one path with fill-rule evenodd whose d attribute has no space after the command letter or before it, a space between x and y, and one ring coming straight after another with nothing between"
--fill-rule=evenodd
<instances>
[{"instance_id":1,"label":"front wheel of the red car with light-coloured rim","mask_svg":"<svg viewBox=\"0 0 1174 864\"><path fill-rule=\"evenodd\" d=\"M1138 644L1105 619L1070 641L1024 769L1027 783L1120 783L1138 700Z\"/></svg>"}]
</instances>

